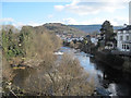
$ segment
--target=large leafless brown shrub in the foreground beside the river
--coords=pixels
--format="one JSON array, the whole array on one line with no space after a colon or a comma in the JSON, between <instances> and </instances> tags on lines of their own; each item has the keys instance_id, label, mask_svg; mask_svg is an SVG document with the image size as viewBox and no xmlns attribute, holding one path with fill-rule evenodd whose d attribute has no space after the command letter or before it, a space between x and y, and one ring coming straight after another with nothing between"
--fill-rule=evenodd
<instances>
[{"instance_id":1,"label":"large leafless brown shrub in the foreground beside the river","mask_svg":"<svg viewBox=\"0 0 131 98\"><path fill-rule=\"evenodd\" d=\"M43 62L37 73L31 74L26 79L25 89L34 95L87 96L94 90L93 82L87 78L88 74L79 61L64 54L59 66Z\"/></svg>"}]
</instances>

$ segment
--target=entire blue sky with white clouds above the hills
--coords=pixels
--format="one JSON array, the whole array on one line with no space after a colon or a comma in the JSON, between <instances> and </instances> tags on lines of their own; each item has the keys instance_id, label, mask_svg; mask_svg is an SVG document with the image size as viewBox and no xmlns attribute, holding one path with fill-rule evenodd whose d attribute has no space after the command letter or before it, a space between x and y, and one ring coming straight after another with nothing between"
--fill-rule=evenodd
<instances>
[{"instance_id":1,"label":"entire blue sky with white clouds above the hills","mask_svg":"<svg viewBox=\"0 0 131 98\"><path fill-rule=\"evenodd\" d=\"M38 26L45 23L71 25L129 24L129 0L2 0L0 24Z\"/></svg>"}]
</instances>

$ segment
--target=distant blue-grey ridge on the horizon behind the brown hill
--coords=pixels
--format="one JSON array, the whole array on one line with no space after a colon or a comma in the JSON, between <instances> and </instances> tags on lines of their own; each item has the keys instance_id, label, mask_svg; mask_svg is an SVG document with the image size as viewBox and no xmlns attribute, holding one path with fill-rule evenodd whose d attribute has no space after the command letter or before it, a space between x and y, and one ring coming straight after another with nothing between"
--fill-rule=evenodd
<instances>
[{"instance_id":1,"label":"distant blue-grey ridge on the horizon behind the brown hill","mask_svg":"<svg viewBox=\"0 0 131 98\"><path fill-rule=\"evenodd\" d=\"M69 26L78 28L85 33L99 32L99 29L102 28L102 25L69 25ZM119 29L122 26L114 26L114 29Z\"/></svg>"}]
</instances>

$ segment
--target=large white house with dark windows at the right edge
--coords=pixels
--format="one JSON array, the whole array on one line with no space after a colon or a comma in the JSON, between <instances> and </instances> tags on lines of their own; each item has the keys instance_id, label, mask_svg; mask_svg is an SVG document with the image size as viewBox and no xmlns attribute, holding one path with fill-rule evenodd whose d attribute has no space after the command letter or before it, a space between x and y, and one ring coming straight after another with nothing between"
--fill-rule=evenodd
<instances>
[{"instance_id":1,"label":"large white house with dark windows at the right edge","mask_svg":"<svg viewBox=\"0 0 131 98\"><path fill-rule=\"evenodd\" d=\"M131 25L118 29L117 48L120 51L131 51Z\"/></svg>"}]
</instances>

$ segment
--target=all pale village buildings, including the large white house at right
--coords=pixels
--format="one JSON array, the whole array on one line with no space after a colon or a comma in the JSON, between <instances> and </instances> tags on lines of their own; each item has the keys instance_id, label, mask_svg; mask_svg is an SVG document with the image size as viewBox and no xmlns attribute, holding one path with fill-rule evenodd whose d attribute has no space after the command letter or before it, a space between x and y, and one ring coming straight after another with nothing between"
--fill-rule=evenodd
<instances>
[{"instance_id":1,"label":"all pale village buildings, including the large white house at right","mask_svg":"<svg viewBox=\"0 0 131 98\"><path fill-rule=\"evenodd\" d=\"M111 50L118 50L118 51L126 51L131 52L131 25L127 25L121 29L115 29L114 33L116 34L115 38L117 40L117 46L112 41L108 41L108 46L105 46L105 49L111 49ZM60 37L62 40L66 40L67 42L71 42L73 40L82 41L84 39L84 36L75 36L73 34L58 34L58 37ZM92 41L95 46L97 46L99 39L105 39L105 36L100 35L100 33L96 35L87 35L86 38Z\"/></svg>"}]
</instances>

